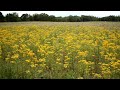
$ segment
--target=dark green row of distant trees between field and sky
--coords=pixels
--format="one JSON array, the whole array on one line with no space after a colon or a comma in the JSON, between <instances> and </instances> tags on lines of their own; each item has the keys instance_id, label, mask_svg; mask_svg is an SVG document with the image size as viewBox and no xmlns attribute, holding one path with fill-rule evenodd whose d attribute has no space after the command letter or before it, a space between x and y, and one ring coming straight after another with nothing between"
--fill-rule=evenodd
<instances>
[{"instance_id":1,"label":"dark green row of distant trees between field and sky","mask_svg":"<svg viewBox=\"0 0 120 90\"><path fill-rule=\"evenodd\" d=\"M106 16L106 17L95 17L95 16L67 16L67 17L56 17L54 15L48 15L45 13L41 14L22 14L20 17L18 13L8 13L3 15L0 12L0 22L20 22L20 21L53 21L53 22L85 22L85 21L120 21L120 16Z\"/></svg>"}]
</instances>

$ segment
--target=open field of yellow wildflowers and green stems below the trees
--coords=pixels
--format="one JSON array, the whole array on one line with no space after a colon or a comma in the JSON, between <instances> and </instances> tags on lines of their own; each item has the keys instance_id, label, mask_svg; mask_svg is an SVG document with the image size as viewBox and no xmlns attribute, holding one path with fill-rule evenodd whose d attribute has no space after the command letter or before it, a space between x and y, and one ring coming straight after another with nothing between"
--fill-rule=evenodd
<instances>
[{"instance_id":1,"label":"open field of yellow wildflowers and green stems below the trees","mask_svg":"<svg viewBox=\"0 0 120 90\"><path fill-rule=\"evenodd\" d=\"M120 22L0 23L0 79L120 79Z\"/></svg>"}]
</instances>

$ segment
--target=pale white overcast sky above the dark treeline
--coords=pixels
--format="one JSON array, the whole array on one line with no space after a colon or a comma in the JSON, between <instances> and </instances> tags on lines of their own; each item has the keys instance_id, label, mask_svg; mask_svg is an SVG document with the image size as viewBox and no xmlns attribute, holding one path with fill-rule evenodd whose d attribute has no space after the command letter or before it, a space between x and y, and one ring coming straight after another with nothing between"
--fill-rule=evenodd
<instances>
[{"instance_id":1,"label":"pale white overcast sky above the dark treeline","mask_svg":"<svg viewBox=\"0 0 120 90\"><path fill-rule=\"evenodd\" d=\"M19 16L22 14L30 14L33 15L35 13L40 14L40 13L46 13L48 15L54 15L54 16L69 16L69 15L91 15L91 16L96 16L96 17L104 17L104 16L109 16L109 15L115 15L118 16L120 15L120 11L1 11L2 14L5 16L8 13L13 13L16 12L18 13Z\"/></svg>"}]
</instances>

